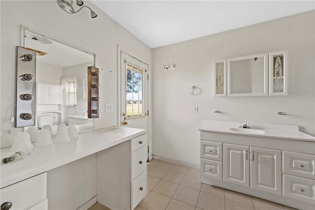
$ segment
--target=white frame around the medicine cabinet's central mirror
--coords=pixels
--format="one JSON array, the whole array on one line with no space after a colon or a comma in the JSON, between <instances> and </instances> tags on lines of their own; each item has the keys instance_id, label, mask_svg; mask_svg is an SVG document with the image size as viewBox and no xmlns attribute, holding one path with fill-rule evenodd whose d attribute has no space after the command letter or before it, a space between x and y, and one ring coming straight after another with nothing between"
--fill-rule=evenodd
<instances>
[{"instance_id":1,"label":"white frame around the medicine cabinet's central mirror","mask_svg":"<svg viewBox=\"0 0 315 210\"><path fill-rule=\"evenodd\" d=\"M264 91L257 93L232 93L232 80L231 80L231 61L253 59L256 57L264 58ZM228 97L244 97L244 96L267 96L268 95L268 53L242 56L227 59L227 96Z\"/></svg>"}]
</instances>

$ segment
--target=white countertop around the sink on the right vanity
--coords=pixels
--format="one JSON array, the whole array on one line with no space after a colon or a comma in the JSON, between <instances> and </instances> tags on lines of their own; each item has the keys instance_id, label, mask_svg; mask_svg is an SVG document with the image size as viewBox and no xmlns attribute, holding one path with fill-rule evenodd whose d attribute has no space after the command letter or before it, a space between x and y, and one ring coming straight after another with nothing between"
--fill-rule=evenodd
<instances>
[{"instance_id":1,"label":"white countertop around the sink on the right vanity","mask_svg":"<svg viewBox=\"0 0 315 210\"><path fill-rule=\"evenodd\" d=\"M315 142L315 137L300 132L298 125L251 123L252 129L263 130L264 134L242 133L229 129L238 127L239 122L203 120L199 131Z\"/></svg>"}]
</instances>

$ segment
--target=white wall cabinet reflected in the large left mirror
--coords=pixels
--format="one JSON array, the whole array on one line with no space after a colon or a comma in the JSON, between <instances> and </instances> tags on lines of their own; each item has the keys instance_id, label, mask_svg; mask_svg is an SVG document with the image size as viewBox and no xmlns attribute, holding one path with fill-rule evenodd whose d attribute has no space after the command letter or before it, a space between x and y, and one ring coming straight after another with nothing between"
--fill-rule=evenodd
<instances>
[{"instance_id":1,"label":"white wall cabinet reflected in the large left mirror","mask_svg":"<svg viewBox=\"0 0 315 210\"><path fill-rule=\"evenodd\" d=\"M37 104L61 104L62 89L60 85L37 83Z\"/></svg>"}]
</instances>

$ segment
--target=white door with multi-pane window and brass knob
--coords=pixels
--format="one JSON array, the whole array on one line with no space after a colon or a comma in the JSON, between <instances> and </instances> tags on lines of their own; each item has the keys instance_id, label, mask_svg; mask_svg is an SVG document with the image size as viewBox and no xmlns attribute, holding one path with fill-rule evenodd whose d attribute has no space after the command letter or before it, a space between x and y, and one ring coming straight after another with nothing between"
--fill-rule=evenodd
<instances>
[{"instance_id":1,"label":"white door with multi-pane window and brass knob","mask_svg":"<svg viewBox=\"0 0 315 210\"><path fill-rule=\"evenodd\" d=\"M120 58L120 126L148 131L148 64L123 51Z\"/></svg>"}]
</instances>

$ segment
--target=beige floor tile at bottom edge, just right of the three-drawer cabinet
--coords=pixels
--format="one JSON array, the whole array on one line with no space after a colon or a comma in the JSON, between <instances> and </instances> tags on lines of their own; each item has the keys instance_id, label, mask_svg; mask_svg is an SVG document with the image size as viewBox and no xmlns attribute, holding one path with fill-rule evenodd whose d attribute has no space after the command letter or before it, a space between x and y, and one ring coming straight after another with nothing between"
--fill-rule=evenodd
<instances>
[{"instance_id":1,"label":"beige floor tile at bottom edge, just right of the three-drawer cabinet","mask_svg":"<svg viewBox=\"0 0 315 210\"><path fill-rule=\"evenodd\" d=\"M147 210L165 210L170 201L171 198L151 191L139 206Z\"/></svg>"}]
</instances>

